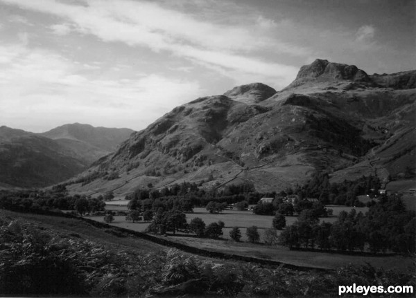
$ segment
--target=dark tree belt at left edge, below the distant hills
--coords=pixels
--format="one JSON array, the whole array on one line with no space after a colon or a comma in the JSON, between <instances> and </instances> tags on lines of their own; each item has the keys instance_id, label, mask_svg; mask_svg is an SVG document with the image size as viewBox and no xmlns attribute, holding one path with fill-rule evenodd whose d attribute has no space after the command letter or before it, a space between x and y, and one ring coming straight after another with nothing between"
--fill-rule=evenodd
<instances>
[{"instance_id":1,"label":"dark tree belt at left edge, below the distant hills","mask_svg":"<svg viewBox=\"0 0 416 298\"><path fill-rule=\"evenodd\" d=\"M79 194L70 196L66 187L59 185L46 191L3 191L0 193L0 208L76 210L82 216L85 213L103 211L105 202L102 196L98 198L80 196Z\"/></svg>"}]
</instances>

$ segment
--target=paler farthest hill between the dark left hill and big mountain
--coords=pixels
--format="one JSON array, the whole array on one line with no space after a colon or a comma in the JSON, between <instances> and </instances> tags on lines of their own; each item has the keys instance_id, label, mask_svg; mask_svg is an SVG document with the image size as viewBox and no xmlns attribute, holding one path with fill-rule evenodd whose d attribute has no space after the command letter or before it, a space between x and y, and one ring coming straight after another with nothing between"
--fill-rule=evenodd
<instances>
[{"instance_id":1,"label":"paler farthest hill between the dark left hill and big mountain","mask_svg":"<svg viewBox=\"0 0 416 298\"><path fill-rule=\"evenodd\" d=\"M58 144L71 149L76 158L90 164L102 156L115 151L117 146L127 140L132 129L92 127L89 124L64 124L40 136L50 138Z\"/></svg>"}]
</instances>

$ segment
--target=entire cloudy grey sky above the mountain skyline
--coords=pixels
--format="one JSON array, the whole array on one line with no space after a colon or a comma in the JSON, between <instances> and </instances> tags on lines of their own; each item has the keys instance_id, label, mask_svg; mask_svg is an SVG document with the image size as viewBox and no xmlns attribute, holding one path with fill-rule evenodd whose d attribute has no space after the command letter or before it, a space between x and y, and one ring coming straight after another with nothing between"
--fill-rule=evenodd
<instances>
[{"instance_id":1,"label":"entire cloudy grey sky above the mountain skyline","mask_svg":"<svg viewBox=\"0 0 416 298\"><path fill-rule=\"evenodd\" d=\"M314 59L416 69L416 1L0 0L0 126L144 129Z\"/></svg>"}]
</instances>

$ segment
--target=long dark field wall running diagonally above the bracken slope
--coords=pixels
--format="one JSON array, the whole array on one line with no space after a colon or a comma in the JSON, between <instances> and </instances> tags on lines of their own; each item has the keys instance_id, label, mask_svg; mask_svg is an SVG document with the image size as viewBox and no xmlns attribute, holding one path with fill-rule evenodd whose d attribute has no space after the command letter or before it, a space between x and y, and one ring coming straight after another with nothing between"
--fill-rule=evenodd
<instances>
[{"instance_id":1,"label":"long dark field wall running diagonally above the bracken slope","mask_svg":"<svg viewBox=\"0 0 416 298\"><path fill-rule=\"evenodd\" d=\"M261 265L266 266L283 266L284 268L288 268L291 270L302 270L302 271L320 271L320 272L332 272L332 269L329 268L319 268L319 267L312 267L312 266L298 266L291 263L285 263L281 261L275 261L275 260L268 260L268 259L260 259L256 257L248 257L248 256L242 256L240 254L227 254L224 252L214 252L211 250L205 250L202 248L195 248L193 246L185 245L183 243L177 243L175 241L170 241L167 239L161 239L156 236L152 236L150 234L145 234L142 232L137 232L133 230L126 229L124 227L114 227L114 225L108 225L107 223L100 223L98 221L94 221L93 219L84 218L80 216L74 216L72 214L65 214L65 213L58 213L58 212L51 212L48 210L42 210L42 209L24 209L24 208L10 208L8 209L12 212L20 212L20 213L32 213L32 214L40 214L40 215L49 215L49 216L58 216L58 217L65 217L65 218L73 218L77 219L79 221L84 221L86 223L89 223L90 225L93 225L94 227L98 228L107 228L116 230L119 232L123 232L126 234L130 234L132 236L137 236L141 239L145 239L148 241L151 241L153 243L157 243L160 245L167 246L168 248L177 248L178 250L182 250L184 252L190 252L191 254L198 254L202 257L211 257L216 259L226 259L226 260L233 260L233 261L244 261L244 262L250 262L250 263L258 263Z\"/></svg>"}]
</instances>

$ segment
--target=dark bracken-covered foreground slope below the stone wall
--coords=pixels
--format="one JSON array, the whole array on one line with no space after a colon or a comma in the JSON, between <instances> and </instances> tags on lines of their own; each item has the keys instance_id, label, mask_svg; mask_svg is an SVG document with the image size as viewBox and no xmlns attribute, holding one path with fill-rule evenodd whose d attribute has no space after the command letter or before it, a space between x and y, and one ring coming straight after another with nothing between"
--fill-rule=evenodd
<instances>
[{"instance_id":1,"label":"dark bracken-covered foreground slope below the stone wall","mask_svg":"<svg viewBox=\"0 0 416 298\"><path fill-rule=\"evenodd\" d=\"M0 295L333 297L338 285L354 282L414 285L411 274L370 266L326 273L257 266L108 232L76 219L0 210Z\"/></svg>"}]
</instances>

